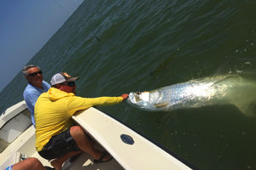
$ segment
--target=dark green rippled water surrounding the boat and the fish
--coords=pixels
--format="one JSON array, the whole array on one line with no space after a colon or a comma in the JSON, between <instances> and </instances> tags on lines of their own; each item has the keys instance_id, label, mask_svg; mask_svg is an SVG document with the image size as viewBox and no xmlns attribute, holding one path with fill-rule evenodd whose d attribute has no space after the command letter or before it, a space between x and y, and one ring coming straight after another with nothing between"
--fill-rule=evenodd
<instances>
[{"instance_id":1,"label":"dark green rippled water surrounding the boat and the fish","mask_svg":"<svg viewBox=\"0 0 256 170\"><path fill-rule=\"evenodd\" d=\"M84 97L237 72L256 78L255 7L253 0L84 1L29 64L40 65L47 82L60 71L79 76ZM0 94L1 112L22 99L25 87L18 74ZM192 168L256 169L256 118L234 105L99 109Z\"/></svg>"}]
</instances>

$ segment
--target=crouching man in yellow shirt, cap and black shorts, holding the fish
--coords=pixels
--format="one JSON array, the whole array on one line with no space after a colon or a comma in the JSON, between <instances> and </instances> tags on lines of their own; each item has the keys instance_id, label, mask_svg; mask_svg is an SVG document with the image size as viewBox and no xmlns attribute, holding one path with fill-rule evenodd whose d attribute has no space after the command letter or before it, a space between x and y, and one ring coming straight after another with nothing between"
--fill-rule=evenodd
<instances>
[{"instance_id":1,"label":"crouching man in yellow shirt, cap and black shorts, holding the fish","mask_svg":"<svg viewBox=\"0 0 256 170\"><path fill-rule=\"evenodd\" d=\"M55 74L47 93L41 94L35 105L36 150L45 159L51 160L56 170L71 156L84 151L95 162L110 161L109 154L94 149L90 139L79 126L73 125L76 111L94 105L114 105L128 98L120 97L81 98L75 96L75 82L79 77L70 77L66 72Z\"/></svg>"}]
</instances>

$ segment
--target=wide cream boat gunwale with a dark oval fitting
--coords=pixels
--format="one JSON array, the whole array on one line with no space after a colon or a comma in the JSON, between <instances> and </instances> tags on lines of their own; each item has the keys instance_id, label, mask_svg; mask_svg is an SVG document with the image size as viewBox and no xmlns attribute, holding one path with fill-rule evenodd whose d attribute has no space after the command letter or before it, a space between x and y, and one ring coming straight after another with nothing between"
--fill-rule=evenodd
<instances>
[{"instance_id":1,"label":"wide cream boat gunwale with a dark oval fitting","mask_svg":"<svg viewBox=\"0 0 256 170\"><path fill-rule=\"evenodd\" d=\"M190 169L138 133L91 107L73 120L125 169Z\"/></svg>"}]
</instances>

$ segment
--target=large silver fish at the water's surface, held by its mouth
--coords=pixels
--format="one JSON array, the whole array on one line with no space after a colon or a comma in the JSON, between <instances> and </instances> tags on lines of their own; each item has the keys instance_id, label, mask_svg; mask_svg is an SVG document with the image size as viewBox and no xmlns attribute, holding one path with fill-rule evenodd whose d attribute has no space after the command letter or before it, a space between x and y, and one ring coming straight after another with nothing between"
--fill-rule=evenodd
<instances>
[{"instance_id":1,"label":"large silver fish at the water's surface, held by its mouth","mask_svg":"<svg viewBox=\"0 0 256 170\"><path fill-rule=\"evenodd\" d=\"M152 91L131 92L128 102L146 111L174 111L208 105L236 105L246 112L256 101L256 82L240 76L207 77Z\"/></svg>"}]
</instances>

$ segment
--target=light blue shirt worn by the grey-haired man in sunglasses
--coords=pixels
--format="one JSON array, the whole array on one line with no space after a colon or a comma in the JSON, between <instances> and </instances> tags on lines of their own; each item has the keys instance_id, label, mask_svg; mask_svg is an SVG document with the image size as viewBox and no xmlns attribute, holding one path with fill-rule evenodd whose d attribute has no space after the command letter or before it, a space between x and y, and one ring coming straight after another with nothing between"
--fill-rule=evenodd
<instances>
[{"instance_id":1,"label":"light blue shirt worn by the grey-haired man in sunglasses","mask_svg":"<svg viewBox=\"0 0 256 170\"><path fill-rule=\"evenodd\" d=\"M37 99L41 94L49 90L50 85L48 82L43 81L42 87L43 89L36 88L32 86L32 84L28 83L23 92L23 98L26 101L27 108L31 113L31 120L34 126L35 126L34 107L36 105Z\"/></svg>"}]
</instances>

